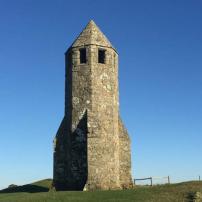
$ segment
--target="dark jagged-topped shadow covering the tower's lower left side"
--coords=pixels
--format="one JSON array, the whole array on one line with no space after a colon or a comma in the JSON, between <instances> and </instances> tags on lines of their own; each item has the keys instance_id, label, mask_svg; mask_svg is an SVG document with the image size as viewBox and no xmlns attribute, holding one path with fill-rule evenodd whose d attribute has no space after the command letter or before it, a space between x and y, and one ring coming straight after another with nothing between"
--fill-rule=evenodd
<instances>
[{"instance_id":1,"label":"dark jagged-topped shadow covering the tower's lower left side","mask_svg":"<svg viewBox=\"0 0 202 202\"><path fill-rule=\"evenodd\" d=\"M83 190L87 181L87 111L71 132L64 117L54 152L54 187L58 191Z\"/></svg>"}]
</instances>

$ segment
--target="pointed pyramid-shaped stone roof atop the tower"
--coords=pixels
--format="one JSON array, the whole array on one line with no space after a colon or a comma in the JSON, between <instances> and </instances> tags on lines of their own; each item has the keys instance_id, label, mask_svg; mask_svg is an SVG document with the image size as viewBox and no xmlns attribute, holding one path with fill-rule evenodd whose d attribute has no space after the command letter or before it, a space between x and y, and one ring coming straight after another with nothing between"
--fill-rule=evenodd
<instances>
[{"instance_id":1,"label":"pointed pyramid-shaped stone roof atop the tower","mask_svg":"<svg viewBox=\"0 0 202 202\"><path fill-rule=\"evenodd\" d=\"M93 20L89 21L77 39L73 42L71 47L78 47L89 44L113 48L110 41L102 33L102 31Z\"/></svg>"}]
</instances>

